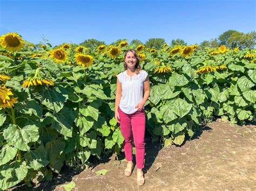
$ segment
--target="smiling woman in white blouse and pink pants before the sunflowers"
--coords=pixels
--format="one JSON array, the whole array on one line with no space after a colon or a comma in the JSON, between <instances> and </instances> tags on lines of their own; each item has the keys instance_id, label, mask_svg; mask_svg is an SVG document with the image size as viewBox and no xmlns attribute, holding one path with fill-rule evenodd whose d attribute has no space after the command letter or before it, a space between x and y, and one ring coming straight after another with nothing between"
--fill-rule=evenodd
<instances>
[{"instance_id":1,"label":"smiling woman in white blouse and pink pants before the sunflowers","mask_svg":"<svg viewBox=\"0 0 256 191\"><path fill-rule=\"evenodd\" d=\"M134 49L124 55L125 71L117 75L117 92L114 117L120 123L124 137L124 152L127 160L125 175L132 174L132 137L136 148L137 184L143 186L145 179L145 112L144 104L150 95L149 76L139 66L139 58Z\"/></svg>"}]
</instances>

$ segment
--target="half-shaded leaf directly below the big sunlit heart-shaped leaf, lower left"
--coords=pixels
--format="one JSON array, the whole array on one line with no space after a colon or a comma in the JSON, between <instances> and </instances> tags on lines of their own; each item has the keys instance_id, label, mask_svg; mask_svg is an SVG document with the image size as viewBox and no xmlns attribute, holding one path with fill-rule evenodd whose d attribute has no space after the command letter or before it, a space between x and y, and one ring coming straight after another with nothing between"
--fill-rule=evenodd
<instances>
[{"instance_id":1,"label":"half-shaded leaf directly below the big sunlit heart-shaped leaf, lower left","mask_svg":"<svg viewBox=\"0 0 256 191\"><path fill-rule=\"evenodd\" d=\"M41 167L45 167L49 164L47 158L47 152L44 149L43 145L40 145L36 150L31 150L24 155L26 159L26 164L35 170L38 170Z\"/></svg>"}]
</instances>

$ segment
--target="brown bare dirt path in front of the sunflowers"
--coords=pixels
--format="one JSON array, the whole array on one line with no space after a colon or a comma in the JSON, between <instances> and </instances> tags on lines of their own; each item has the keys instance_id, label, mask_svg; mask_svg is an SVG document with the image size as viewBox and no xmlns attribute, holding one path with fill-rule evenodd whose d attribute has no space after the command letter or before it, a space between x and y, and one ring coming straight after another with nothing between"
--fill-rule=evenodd
<instances>
[{"instance_id":1,"label":"brown bare dirt path in front of the sunflowers","mask_svg":"<svg viewBox=\"0 0 256 191\"><path fill-rule=\"evenodd\" d=\"M253 125L231 126L218 119L181 147L161 149L147 142L143 187L136 184L136 168L126 177L126 162L114 158L70 177L76 183L72 190L256 190ZM110 171L96 175L101 169ZM64 190L58 183L43 189Z\"/></svg>"}]
</instances>

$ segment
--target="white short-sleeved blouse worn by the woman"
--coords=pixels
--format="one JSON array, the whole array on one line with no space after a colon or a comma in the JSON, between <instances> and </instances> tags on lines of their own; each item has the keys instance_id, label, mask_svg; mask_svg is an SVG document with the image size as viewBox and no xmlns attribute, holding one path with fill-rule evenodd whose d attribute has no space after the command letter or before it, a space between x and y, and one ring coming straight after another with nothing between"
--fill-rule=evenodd
<instances>
[{"instance_id":1,"label":"white short-sleeved blouse worn by the woman","mask_svg":"<svg viewBox=\"0 0 256 191\"><path fill-rule=\"evenodd\" d=\"M119 108L125 114L133 114L138 109L135 106L143 99L143 82L146 80L147 72L140 70L139 74L129 76L126 70L117 75L122 84L122 97Z\"/></svg>"}]
</instances>

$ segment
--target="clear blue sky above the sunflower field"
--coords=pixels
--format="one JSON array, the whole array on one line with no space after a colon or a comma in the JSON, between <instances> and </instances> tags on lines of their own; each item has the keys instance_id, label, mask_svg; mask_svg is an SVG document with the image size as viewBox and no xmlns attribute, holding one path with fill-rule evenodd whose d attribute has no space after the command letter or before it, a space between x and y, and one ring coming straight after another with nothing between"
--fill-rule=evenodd
<instances>
[{"instance_id":1,"label":"clear blue sky above the sunflower field","mask_svg":"<svg viewBox=\"0 0 256 191\"><path fill-rule=\"evenodd\" d=\"M227 30L256 30L256 1L80 1L0 0L0 34L17 32L32 43L42 35L52 45L95 38L184 39L188 44L217 38Z\"/></svg>"}]
</instances>

